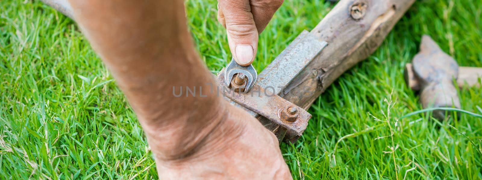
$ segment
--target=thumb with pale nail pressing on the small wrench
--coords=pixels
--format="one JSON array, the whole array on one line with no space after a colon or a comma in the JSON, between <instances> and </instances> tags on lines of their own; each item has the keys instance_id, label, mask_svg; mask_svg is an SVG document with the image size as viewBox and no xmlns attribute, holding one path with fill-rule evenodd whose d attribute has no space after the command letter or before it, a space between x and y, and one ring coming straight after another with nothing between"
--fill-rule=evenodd
<instances>
[{"instance_id":1,"label":"thumb with pale nail pressing on the small wrench","mask_svg":"<svg viewBox=\"0 0 482 180\"><path fill-rule=\"evenodd\" d=\"M254 24L249 0L219 0L228 32L229 49L234 60L250 65L258 48L258 30Z\"/></svg>"}]
</instances>

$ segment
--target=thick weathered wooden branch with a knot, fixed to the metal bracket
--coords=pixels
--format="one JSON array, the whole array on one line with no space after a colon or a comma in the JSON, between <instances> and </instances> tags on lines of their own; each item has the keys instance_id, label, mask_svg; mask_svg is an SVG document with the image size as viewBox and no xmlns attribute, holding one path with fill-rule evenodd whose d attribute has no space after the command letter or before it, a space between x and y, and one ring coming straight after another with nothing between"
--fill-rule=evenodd
<instances>
[{"instance_id":1,"label":"thick weathered wooden branch with a knot, fixed to the metal bracket","mask_svg":"<svg viewBox=\"0 0 482 180\"><path fill-rule=\"evenodd\" d=\"M343 72L368 58L415 0L341 0L310 32L328 46L281 95L309 108ZM308 88L308 89L306 89ZM289 91L304 92L293 94Z\"/></svg>"}]
</instances>

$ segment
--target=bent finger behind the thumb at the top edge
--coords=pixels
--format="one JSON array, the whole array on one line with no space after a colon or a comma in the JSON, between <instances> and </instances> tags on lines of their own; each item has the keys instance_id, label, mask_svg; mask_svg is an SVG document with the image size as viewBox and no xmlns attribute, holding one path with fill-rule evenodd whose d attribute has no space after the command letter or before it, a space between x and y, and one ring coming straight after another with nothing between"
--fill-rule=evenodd
<instances>
[{"instance_id":1,"label":"bent finger behind the thumb at the top edge","mask_svg":"<svg viewBox=\"0 0 482 180\"><path fill-rule=\"evenodd\" d=\"M251 0L251 13L258 33L263 32L283 0Z\"/></svg>"}]
</instances>

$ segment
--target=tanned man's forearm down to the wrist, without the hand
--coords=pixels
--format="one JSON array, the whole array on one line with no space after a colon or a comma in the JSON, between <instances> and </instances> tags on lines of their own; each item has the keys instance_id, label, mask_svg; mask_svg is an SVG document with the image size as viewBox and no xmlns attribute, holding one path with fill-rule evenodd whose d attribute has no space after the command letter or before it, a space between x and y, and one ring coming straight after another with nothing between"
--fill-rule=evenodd
<instances>
[{"instance_id":1,"label":"tanned man's forearm down to the wrist, without the hand","mask_svg":"<svg viewBox=\"0 0 482 180\"><path fill-rule=\"evenodd\" d=\"M214 79L193 48L183 1L71 4L83 33L136 112L149 144L161 152L156 156L179 158L199 148L198 143L222 123L226 107L210 91ZM186 86L197 88L197 96L184 92L175 97L173 87L181 86L183 91Z\"/></svg>"}]
</instances>

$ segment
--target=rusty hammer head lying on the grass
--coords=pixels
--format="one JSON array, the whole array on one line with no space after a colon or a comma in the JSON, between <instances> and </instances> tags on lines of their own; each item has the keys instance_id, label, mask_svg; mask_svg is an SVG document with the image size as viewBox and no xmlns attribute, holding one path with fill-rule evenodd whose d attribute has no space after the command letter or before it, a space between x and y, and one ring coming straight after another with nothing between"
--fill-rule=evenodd
<instances>
[{"instance_id":1,"label":"rusty hammer head lying on the grass","mask_svg":"<svg viewBox=\"0 0 482 180\"><path fill-rule=\"evenodd\" d=\"M415 55L412 64L405 66L405 82L420 91L423 108L460 108L460 100L454 79L458 76L458 65L454 58L442 51L430 36L422 36L420 52ZM435 110L433 117L443 120L444 110Z\"/></svg>"}]
</instances>

